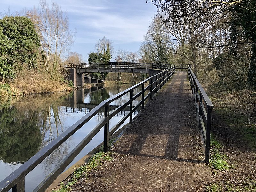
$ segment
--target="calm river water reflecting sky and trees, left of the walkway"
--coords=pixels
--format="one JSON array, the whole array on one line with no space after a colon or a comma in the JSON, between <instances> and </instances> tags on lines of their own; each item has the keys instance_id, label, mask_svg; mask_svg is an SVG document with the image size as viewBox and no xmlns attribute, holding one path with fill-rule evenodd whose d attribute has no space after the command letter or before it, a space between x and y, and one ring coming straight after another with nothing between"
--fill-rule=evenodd
<instances>
[{"instance_id":1,"label":"calm river water reflecting sky and trees, left of the walkway","mask_svg":"<svg viewBox=\"0 0 256 192\"><path fill-rule=\"evenodd\" d=\"M92 87L69 94L22 96L0 101L0 181L54 140L72 124L86 115L101 101L129 88L131 84L111 87ZM135 90L134 95L141 88ZM129 94L110 104L110 113L129 100ZM133 102L139 103L141 97ZM109 130L128 113L129 107L119 112L109 122ZM138 108L140 110L140 108ZM136 116L138 111L133 113ZM103 110L57 148L25 177L26 191L32 191L68 153L104 117ZM124 124L128 123L128 119ZM123 124L123 125L124 125ZM89 142L69 165L98 146L104 139L104 129Z\"/></svg>"}]
</instances>

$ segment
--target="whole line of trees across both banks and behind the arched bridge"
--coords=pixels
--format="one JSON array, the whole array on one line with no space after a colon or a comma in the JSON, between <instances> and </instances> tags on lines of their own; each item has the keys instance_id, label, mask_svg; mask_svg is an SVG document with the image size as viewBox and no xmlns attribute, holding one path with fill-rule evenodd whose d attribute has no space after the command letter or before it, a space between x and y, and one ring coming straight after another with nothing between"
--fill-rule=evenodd
<instances>
[{"instance_id":1,"label":"whole line of trees across both banks and behind the arched bridge","mask_svg":"<svg viewBox=\"0 0 256 192\"><path fill-rule=\"evenodd\" d=\"M156 62L192 64L199 80L219 80L238 88L256 87L255 4L243 1L152 0L152 18L138 52L114 50L112 40L100 38L88 62ZM67 12L40 0L26 16L0 19L0 79L13 79L21 68L56 77L62 56L73 43ZM115 57L113 55L115 54ZM69 52L65 62L81 63ZM95 74L106 78L107 73ZM120 80L118 73L116 80ZM136 74L133 74L136 76ZM147 76L144 74L143 78Z\"/></svg>"}]
</instances>

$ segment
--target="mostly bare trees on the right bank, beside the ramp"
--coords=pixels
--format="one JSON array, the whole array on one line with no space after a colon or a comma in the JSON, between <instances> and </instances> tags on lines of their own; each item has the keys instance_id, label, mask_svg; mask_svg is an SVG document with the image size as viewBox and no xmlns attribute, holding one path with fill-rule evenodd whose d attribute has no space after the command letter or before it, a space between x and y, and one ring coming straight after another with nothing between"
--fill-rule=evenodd
<instances>
[{"instance_id":1,"label":"mostly bare trees on the right bank, beside the ramp","mask_svg":"<svg viewBox=\"0 0 256 192\"><path fill-rule=\"evenodd\" d=\"M152 0L179 62L191 62L199 78L237 88L256 87L255 1Z\"/></svg>"}]
</instances>

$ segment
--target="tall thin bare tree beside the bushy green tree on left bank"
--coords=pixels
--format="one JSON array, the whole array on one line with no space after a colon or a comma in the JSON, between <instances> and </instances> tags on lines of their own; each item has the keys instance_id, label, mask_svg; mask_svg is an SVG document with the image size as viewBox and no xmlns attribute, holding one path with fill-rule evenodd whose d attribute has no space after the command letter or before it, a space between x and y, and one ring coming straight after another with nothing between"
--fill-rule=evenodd
<instances>
[{"instance_id":1,"label":"tall thin bare tree beside the bushy green tree on left bank","mask_svg":"<svg viewBox=\"0 0 256 192\"><path fill-rule=\"evenodd\" d=\"M69 29L68 12L52 1L51 7L46 0L40 0L40 8L34 9L28 16L34 21L41 40L41 49L45 70L55 73L60 65L60 57L73 44L75 30Z\"/></svg>"}]
</instances>

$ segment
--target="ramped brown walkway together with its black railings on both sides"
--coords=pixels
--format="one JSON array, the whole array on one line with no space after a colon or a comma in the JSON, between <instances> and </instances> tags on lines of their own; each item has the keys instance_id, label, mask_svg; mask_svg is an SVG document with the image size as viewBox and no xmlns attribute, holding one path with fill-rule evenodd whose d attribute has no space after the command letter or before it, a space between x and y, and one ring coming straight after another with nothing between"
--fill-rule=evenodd
<instances>
[{"instance_id":1,"label":"ramped brown walkway together with its black railings on both sides","mask_svg":"<svg viewBox=\"0 0 256 192\"><path fill-rule=\"evenodd\" d=\"M110 107L127 94L128 101ZM146 100L149 100L147 104ZM75 184L78 191L86 191L86 188L89 191L197 191L202 182L211 180L211 170L204 166L204 162L209 163L210 157L213 104L189 66L187 71L177 71L176 66L158 69L155 75L92 108L1 181L0 191L25 191L25 176L102 111L104 116L99 123L34 191L47 190L100 130L104 130L102 140L107 152L111 136L126 119L129 124L113 149L116 157L102 165L99 175L95 173L95 179L90 182L79 180ZM129 108L128 113L110 126L109 120L124 108ZM132 118L138 108L141 111Z\"/></svg>"}]
</instances>

